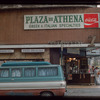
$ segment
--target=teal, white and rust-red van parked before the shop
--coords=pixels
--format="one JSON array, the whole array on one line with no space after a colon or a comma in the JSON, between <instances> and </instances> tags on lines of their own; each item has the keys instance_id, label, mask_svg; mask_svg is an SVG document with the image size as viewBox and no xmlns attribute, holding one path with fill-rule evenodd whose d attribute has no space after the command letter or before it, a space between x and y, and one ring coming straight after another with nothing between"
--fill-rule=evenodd
<instances>
[{"instance_id":1,"label":"teal, white and rust-red van parked before the shop","mask_svg":"<svg viewBox=\"0 0 100 100\"><path fill-rule=\"evenodd\" d=\"M63 96L65 91L60 65L6 62L0 66L0 95Z\"/></svg>"}]
</instances>

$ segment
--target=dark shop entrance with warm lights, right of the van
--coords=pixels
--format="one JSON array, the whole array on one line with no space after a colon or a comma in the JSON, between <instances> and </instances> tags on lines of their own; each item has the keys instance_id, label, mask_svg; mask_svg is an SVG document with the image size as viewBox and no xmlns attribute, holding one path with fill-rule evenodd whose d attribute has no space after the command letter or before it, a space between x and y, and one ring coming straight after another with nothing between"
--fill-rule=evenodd
<instances>
[{"instance_id":1,"label":"dark shop entrance with warm lights, right of the van","mask_svg":"<svg viewBox=\"0 0 100 100\"><path fill-rule=\"evenodd\" d=\"M65 57L65 77L67 84L90 84L91 75L88 73L86 57Z\"/></svg>"}]
</instances>

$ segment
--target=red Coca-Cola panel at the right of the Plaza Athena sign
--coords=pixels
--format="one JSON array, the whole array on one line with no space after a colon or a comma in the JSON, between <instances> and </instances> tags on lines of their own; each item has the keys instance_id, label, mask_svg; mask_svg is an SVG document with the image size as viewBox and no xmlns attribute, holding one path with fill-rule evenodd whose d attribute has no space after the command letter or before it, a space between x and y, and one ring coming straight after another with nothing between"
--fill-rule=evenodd
<instances>
[{"instance_id":1,"label":"red Coca-Cola panel at the right of the Plaza Athena sign","mask_svg":"<svg viewBox=\"0 0 100 100\"><path fill-rule=\"evenodd\" d=\"M98 28L98 14L84 14L84 28Z\"/></svg>"}]
</instances>

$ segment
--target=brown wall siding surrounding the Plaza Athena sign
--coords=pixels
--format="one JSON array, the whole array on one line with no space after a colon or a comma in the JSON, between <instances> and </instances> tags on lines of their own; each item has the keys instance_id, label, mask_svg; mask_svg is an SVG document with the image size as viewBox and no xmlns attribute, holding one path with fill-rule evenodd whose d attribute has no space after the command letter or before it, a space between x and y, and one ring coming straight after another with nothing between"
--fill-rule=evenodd
<instances>
[{"instance_id":1,"label":"brown wall siding surrounding the Plaza Athena sign","mask_svg":"<svg viewBox=\"0 0 100 100\"><path fill-rule=\"evenodd\" d=\"M49 41L82 41L96 35L100 42L100 29L24 30L24 15L99 13L98 8L41 8L0 10L0 44L44 44Z\"/></svg>"}]
</instances>

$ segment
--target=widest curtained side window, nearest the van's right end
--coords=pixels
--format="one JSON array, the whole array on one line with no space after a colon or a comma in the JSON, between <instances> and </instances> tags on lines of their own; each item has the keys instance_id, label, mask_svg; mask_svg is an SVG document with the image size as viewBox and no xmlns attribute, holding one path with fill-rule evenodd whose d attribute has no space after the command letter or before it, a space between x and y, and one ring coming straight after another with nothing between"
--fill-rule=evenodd
<instances>
[{"instance_id":1,"label":"widest curtained side window, nearest the van's right end","mask_svg":"<svg viewBox=\"0 0 100 100\"><path fill-rule=\"evenodd\" d=\"M38 76L57 76L58 68L49 67L49 68L38 68Z\"/></svg>"}]
</instances>

